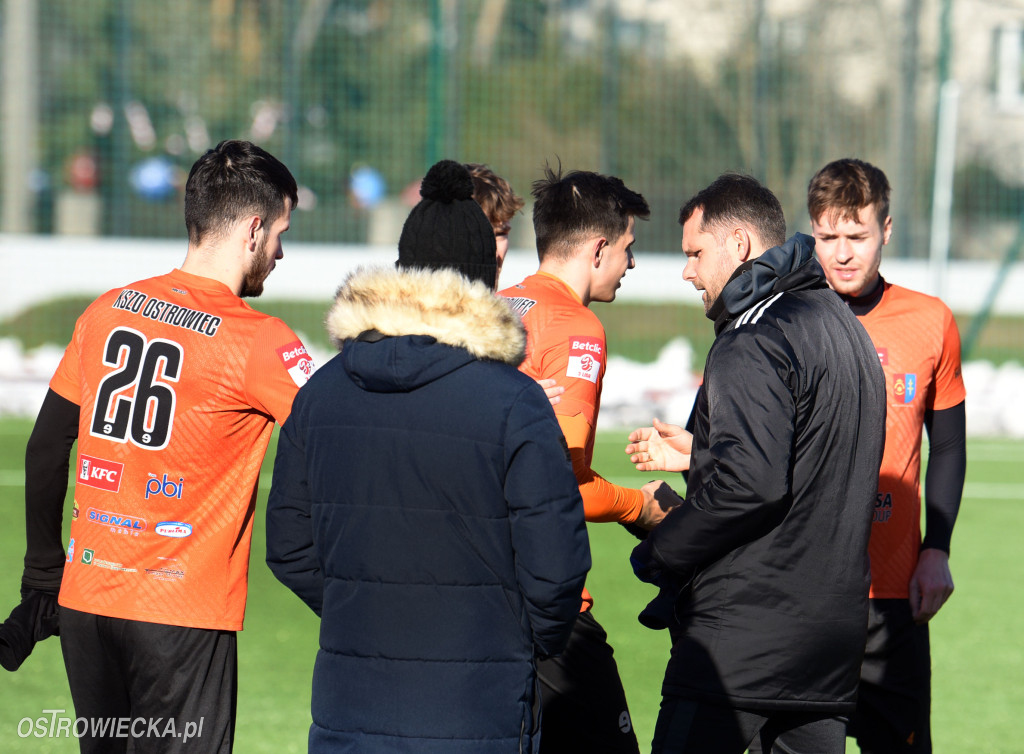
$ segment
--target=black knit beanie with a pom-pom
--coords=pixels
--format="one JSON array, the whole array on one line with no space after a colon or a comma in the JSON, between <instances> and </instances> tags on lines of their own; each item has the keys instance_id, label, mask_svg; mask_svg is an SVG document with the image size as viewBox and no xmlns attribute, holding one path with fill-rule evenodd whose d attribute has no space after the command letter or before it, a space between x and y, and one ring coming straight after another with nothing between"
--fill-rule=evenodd
<instances>
[{"instance_id":1,"label":"black knit beanie with a pom-pom","mask_svg":"<svg viewBox=\"0 0 1024 754\"><path fill-rule=\"evenodd\" d=\"M399 267L450 267L495 287L495 231L473 199L473 178L462 163L441 160L420 184L420 203L398 239Z\"/></svg>"}]
</instances>

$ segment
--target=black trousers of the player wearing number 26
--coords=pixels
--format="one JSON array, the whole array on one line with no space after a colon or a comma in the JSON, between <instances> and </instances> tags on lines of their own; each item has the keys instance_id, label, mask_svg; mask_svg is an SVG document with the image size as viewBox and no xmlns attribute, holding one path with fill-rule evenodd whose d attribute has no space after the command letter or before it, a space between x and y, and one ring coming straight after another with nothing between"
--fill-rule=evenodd
<instances>
[{"instance_id":1,"label":"black trousers of the player wearing number 26","mask_svg":"<svg viewBox=\"0 0 1024 754\"><path fill-rule=\"evenodd\" d=\"M83 754L224 754L238 697L233 631L60 609Z\"/></svg>"}]
</instances>

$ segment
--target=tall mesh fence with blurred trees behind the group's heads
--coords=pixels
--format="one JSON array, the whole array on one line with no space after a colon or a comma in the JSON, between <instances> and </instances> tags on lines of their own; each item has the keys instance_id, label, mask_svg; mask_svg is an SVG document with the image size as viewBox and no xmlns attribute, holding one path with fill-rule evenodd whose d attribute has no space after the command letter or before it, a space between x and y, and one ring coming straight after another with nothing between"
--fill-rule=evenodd
<instances>
[{"instance_id":1,"label":"tall mesh fence with blurred trees behind the group's heads","mask_svg":"<svg viewBox=\"0 0 1024 754\"><path fill-rule=\"evenodd\" d=\"M0 32L8 234L183 239L189 166L243 137L299 180L290 240L393 245L449 157L527 199L545 163L618 175L652 207L638 250L678 253L719 173L792 233L858 157L893 185L888 258L991 264L972 345L1019 267L1024 0L0 0Z\"/></svg>"}]
</instances>

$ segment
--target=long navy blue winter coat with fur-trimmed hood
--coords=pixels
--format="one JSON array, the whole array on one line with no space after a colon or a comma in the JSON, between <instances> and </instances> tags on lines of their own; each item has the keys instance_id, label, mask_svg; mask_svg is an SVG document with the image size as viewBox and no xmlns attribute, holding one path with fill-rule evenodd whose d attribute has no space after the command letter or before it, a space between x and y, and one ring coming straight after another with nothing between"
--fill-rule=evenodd
<instances>
[{"instance_id":1,"label":"long navy blue winter coat with fur-trimmed hood","mask_svg":"<svg viewBox=\"0 0 1024 754\"><path fill-rule=\"evenodd\" d=\"M359 270L278 446L267 563L322 617L310 752L529 752L535 658L590 568L519 318L450 270Z\"/></svg>"}]
</instances>

